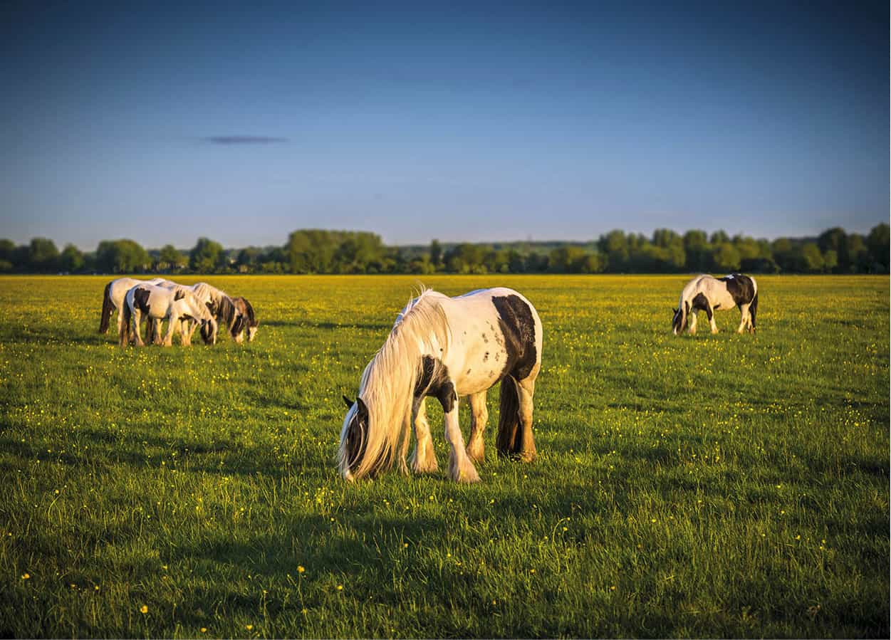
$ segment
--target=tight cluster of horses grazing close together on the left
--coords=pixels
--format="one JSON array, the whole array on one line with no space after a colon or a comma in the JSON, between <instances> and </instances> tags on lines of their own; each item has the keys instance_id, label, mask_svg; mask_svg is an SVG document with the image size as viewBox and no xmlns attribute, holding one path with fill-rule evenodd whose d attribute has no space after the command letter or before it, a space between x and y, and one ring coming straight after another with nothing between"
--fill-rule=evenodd
<instances>
[{"instance_id":1,"label":"tight cluster of horses grazing close together on the left","mask_svg":"<svg viewBox=\"0 0 891 640\"><path fill-rule=\"evenodd\" d=\"M118 336L121 347L131 341L137 346L146 343L173 344L179 329L182 344L192 344L192 336L200 329L205 344L217 344L217 331L224 326L234 342L248 342L257 335L259 322L254 308L243 297L230 297L225 291L206 282L181 285L173 280L155 278L139 280L119 278L111 280L102 292L102 317L99 332L107 333L111 313L118 312ZM145 320L145 340L140 325ZM162 336L164 321L167 334Z\"/></svg>"}]
</instances>

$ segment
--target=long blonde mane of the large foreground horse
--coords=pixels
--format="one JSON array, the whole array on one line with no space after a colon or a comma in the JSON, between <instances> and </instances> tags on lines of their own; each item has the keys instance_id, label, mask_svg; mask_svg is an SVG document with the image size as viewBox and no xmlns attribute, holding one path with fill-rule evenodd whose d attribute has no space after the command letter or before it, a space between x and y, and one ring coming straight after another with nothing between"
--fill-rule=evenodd
<instances>
[{"instance_id":1,"label":"long blonde mane of the large foreground horse","mask_svg":"<svg viewBox=\"0 0 891 640\"><path fill-rule=\"evenodd\" d=\"M440 304L446 296L424 289L396 319L387 341L362 374L359 397L368 407L364 455L351 474L356 478L393 466L399 443L408 436L412 422L414 390L423 373L424 355L448 352L451 334ZM433 372L436 377L437 372ZM341 438L339 463L348 463L346 438Z\"/></svg>"}]
</instances>

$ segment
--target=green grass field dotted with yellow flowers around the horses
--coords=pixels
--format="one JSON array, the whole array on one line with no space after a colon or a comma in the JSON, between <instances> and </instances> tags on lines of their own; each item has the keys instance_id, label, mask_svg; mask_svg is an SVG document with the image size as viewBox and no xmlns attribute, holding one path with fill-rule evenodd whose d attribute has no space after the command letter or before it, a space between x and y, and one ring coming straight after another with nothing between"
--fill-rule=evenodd
<instances>
[{"instance_id":1,"label":"green grass field dotted with yellow flowers around the horses","mask_svg":"<svg viewBox=\"0 0 891 640\"><path fill-rule=\"evenodd\" d=\"M482 482L347 485L341 393L417 279L208 277L256 342L124 351L107 278L0 278L0 635L887 637L888 278L759 277L756 336L675 337L686 279L425 278L535 304L538 460L494 389Z\"/></svg>"}]
</instances>

